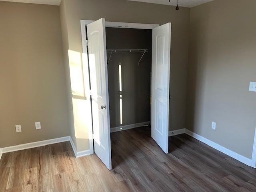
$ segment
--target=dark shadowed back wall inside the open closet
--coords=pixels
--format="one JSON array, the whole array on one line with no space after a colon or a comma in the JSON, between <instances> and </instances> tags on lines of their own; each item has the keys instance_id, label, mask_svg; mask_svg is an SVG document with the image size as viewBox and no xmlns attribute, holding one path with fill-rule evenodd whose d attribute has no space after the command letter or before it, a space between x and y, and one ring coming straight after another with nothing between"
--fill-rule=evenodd
<instances>
[{"instance_id":1,"label":"dark shadowed back wall inside the open closet","mask_svg":"<svg viewBox=\"0 0 256 192\"><path fill-rule=\"evenodd\" d=\"M120 126L119 65L122 66L122 125L150 121L152 30L106 28L107 49L148 49L112 53L108 64L110 127ZM108 59L110 53L108 53Z\"/></svg>"}]
</instances>

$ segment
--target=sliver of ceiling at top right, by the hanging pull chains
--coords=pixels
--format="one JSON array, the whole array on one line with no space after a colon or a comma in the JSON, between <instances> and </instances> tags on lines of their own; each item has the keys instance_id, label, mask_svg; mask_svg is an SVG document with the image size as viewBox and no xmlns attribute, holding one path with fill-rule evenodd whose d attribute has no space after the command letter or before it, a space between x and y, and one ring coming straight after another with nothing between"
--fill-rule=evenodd
<instances>
[{"instance_id":1,"label":"sliver of ceiling at top right, by the hanging pull chains","mask_svg":"<svg viewBox=\"0 0 256 192\"><path fill-rule=\"evenodd\" d=\"M163 4L163 5L177 5L177 0L128 0L128 1L140 1L140 2L147 2L147 3L156 3L156 4ZM210 2L212 0L178 0L178 5L181 7L194 7L198 6L203 3Z\"/></svg>"}]
</instances>

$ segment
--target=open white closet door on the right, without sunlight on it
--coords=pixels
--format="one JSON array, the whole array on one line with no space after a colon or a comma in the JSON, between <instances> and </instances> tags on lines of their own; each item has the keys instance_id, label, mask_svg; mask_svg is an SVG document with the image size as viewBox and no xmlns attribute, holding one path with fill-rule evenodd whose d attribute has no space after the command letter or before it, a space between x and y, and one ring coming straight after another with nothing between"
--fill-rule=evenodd
<instances>
[{"instance_id":1,"label":"open white closet door on the right, without sunlight on it","mask_svg":"<svg viewBox=\"0 0 256 192\"><path fill-rule=\"evenodd\" d=\"M171 23L152 30L151 136L168 153Z\"/></svg>"}]
</instances>

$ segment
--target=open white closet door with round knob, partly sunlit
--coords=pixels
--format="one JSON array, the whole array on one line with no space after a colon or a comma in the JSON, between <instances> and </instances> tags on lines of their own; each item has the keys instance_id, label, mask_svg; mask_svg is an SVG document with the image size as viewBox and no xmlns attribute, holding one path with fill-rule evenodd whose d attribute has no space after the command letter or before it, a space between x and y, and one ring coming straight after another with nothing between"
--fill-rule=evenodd
<instances>
[{"instance_id":1,"label":"open white closet door with round knob, partly sunlit","mask_svg":"<svg viewBox=\"0 0 256 192\"><path fill-rule=\"evenodd\" d=\"M87 25L94 152L111 170L106 28L102 18Z\"/></svg>"}]
</instances>

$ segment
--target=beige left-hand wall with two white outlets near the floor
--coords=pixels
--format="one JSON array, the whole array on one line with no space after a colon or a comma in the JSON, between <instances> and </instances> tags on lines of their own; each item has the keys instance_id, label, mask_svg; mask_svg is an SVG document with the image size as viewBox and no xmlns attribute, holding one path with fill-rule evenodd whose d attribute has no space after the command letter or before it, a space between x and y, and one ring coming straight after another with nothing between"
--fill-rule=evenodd
<instances>
[{"instance_id":1,"label":"beige left-hand wall with two white outlets near the floor","mask_svg":"<svg viewBox=\"0 0 256 192\"><path fill-rule=\"evenodd\" d=\"M0 147L69 135L62 58L58 6L0 1Z\"/></svg>"}]
</instances>

